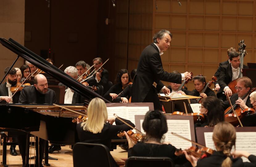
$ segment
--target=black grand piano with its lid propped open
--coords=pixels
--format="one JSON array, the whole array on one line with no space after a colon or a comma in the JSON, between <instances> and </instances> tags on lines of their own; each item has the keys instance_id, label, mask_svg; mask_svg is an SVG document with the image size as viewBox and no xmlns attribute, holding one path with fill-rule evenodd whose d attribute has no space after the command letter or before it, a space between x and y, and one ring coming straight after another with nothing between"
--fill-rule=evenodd
<instances>
[{"instance_id":1,"label":"black grand piano with its lid propped open","mask_svg":"<svg viewBox=\"0 0 256 167\"><path fill-rule=\"evenodd\" d=\"M66 107L84 113L85 108L91 99L95 97L99 97L106 103L110 103L110 101L106 100L99 94L93 92L91 89L77 82L75 79L71 78L63 71L53 66L39 55L33 53L31 50L28 50L24 46L20 45L13 39L10 38L9 40L6 40L5 38L0 38L0 43L18 55L14 63L19 57L22 57L86 99L85 104L83 105L65 105ZM39 159L37 159L38 165L35 166L42 166L46 141L50 141L50 143L53 144L64 145L72 145L78 142L78 137L76 134L76 123L72 123L72 118L76 117L77 115L65 110L58 109L52 106L52 104L0 104L0 110L0 131L27 134L27 156L25 166L29 166L28 148L30 134L37 136L40 143L38 148L39 156L37 156L37 158L39 157ZM10 120L12 120L12 123L10 123Z\"/></svg>"}]
</instances>

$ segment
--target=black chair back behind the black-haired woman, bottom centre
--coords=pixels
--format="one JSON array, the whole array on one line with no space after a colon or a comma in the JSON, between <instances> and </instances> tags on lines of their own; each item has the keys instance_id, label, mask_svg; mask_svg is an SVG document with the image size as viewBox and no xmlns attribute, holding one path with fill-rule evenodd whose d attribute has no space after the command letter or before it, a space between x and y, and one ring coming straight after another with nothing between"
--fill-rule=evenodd
<instances>
[{"instance_id":1,"label":"black chair back behind the black-haired woman, bottom centre","mask_svg":"<svg viewBox=\"0 0 256 167\"><path fill-rule=\"evenodd\" d=\"M129 157L125 167L173 167L174 163L169 157Z\"/></svg>"}]
</instances>

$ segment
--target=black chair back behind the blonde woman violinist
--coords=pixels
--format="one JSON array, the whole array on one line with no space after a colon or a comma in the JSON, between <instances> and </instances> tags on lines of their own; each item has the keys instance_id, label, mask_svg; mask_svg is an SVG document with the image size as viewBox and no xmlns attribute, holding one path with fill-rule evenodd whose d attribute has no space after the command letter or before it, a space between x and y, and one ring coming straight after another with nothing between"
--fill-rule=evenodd
<instances>
[{"instance_id":1,"label":"black chair back behind the blonde woman violinist","mask_svg":"<svg viewBox=\"0 0 256 167\"><path fill-rule=\"evenodd\" d=\"M74 167L113 167L113 161L103 144L78 142L73 146Z\"/></svg>"}]
</instances>

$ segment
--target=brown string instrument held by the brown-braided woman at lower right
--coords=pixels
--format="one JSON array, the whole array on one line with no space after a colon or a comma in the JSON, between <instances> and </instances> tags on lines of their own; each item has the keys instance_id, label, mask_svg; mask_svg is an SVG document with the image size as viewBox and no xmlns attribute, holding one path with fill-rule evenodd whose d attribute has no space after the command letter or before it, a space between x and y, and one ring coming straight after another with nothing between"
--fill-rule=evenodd
<instances>
[{"instance_id":1,"label":"brown string instrument held by the brown-braided woman at lower right","mask_svg":"<svg viewBox=\"0 0 256 167\"><path fill-rule=\"evenodd\" d=\"M174 154L176 156L183 155L184 153L182 153L182 151L183 151L182 149L177 149ZM209 157L214 153L214 150L208 147L202 147L199 149L195 146L192 146L189 149L185 149L184 151L186 151L190 155L193 155L196 158L201 158L201 159L205 157Z\"/></svg>"}]
</instances>

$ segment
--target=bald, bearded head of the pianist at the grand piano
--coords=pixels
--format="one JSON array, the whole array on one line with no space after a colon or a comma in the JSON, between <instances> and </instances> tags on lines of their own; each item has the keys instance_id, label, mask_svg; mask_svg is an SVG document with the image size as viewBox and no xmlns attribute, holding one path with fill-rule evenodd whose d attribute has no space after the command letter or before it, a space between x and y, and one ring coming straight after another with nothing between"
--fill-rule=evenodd
<instances>
[{"instance_id":1,"label":"bald, bearded head of the pianist at the grand piano","mask_svg":"<svg viewBox=\"0 0 256 167\"><path fill-rule=\"evenodd\" d=\"M38 74L34 78L34 86L35 88L42 94L47 93L48 90L48 82L43 74Z\"/></svg>"}]
</instances>

